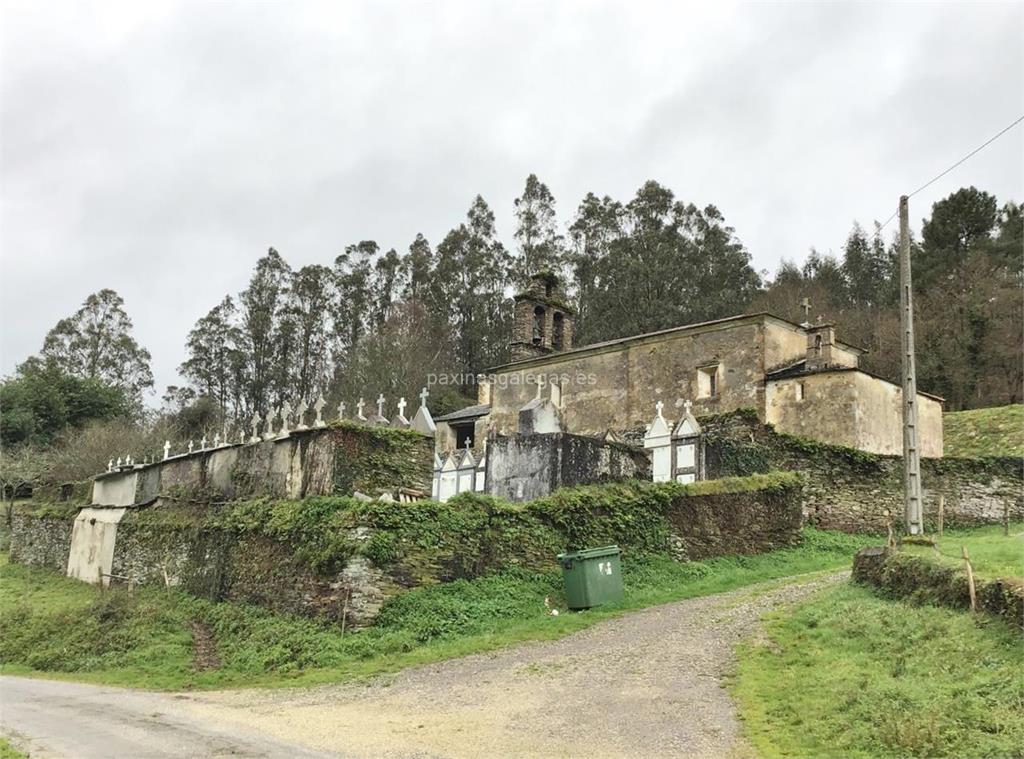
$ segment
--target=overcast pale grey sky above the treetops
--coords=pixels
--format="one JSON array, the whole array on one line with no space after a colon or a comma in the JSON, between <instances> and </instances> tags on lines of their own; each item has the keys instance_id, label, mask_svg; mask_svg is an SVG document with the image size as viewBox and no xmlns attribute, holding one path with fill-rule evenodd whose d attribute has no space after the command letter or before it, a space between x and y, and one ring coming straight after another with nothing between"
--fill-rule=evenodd
<instances>
[{"instance_id":1,"label":"overcast pale grey sky above the treetops","mask_svg":"<svg viewBox=\"0 0 1024 759\"><path fill-rule=\"evenodd\" d=\"M3 3L4 374L92 292L177 381L273 246L436 243L530 172L562 221L646 179L759 269L839 252L1024 114L1024 4ZM911 201L1024 200L1018 126ZM890 225L887 231L894 225Z\"/></svg>"}]
</instances>

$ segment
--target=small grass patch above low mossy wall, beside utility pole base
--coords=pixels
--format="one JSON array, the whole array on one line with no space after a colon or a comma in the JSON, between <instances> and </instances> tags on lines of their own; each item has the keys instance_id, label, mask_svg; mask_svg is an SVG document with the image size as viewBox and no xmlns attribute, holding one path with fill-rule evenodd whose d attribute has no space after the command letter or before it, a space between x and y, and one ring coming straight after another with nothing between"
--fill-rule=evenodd
<instances>
[{"instance_id":1,"label":"small grass patch above low mossy wall, beside utility pole base","mask_svg":"<svg viewBox=\"0 0 1024 759\"><path fill-rule=\"evenodd\" d=\"M967 548L975 575L994 579L1024 577L1024 522L1011 522L1010 535L1002 534L1001 525L973 530L946 530L938 540L938 558L945 563L963 565L962 549ZM935 549L928 546L904 545L908 553L936 557Z\"/></svg>"}]
</instances>

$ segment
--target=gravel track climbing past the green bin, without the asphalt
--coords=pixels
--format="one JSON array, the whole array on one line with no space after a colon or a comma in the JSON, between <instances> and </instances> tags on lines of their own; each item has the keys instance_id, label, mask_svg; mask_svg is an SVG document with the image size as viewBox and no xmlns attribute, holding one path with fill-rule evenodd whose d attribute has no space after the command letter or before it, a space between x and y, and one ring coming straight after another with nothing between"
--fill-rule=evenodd
<instances>
[{"instance_id":1,"label":"gravel track climbing past the green bin, without the asphalt","mask_svg":"<svg viewBox=\"0 0 1024 759\"><path fill-rule=\"evenodd\" d=\"M193 715L376 757L745 757L723 686L765 612L843 575L638 612L557 641L399 674L389 684L201 693Z\"/></svg>"}]
</instances>

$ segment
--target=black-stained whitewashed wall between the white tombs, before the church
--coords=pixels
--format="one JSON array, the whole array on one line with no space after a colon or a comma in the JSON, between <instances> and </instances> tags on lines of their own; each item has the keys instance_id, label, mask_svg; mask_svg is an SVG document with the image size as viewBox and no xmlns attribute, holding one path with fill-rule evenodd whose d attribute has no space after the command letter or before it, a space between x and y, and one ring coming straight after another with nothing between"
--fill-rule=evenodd
<instances>
[{"instance_id":1,"label":"black-stained whitewashed wall between the white tombs, before the church","mask_svg":"<svg viewBox=\"0 0 1024 759\"><path fill-rule=\"evenodd\" d=\"M563 432L492 438L484 492L530 501L559 488L615 479L650 478L640 449Z\"/></svg>"}]
</instances>

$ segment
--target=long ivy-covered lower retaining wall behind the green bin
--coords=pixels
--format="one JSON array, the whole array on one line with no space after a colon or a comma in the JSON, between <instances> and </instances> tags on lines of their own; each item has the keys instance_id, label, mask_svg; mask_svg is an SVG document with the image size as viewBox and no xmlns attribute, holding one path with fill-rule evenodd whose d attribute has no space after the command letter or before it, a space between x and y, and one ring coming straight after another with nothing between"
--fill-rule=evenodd
<instances>
[{"instance_id":1,"label":"long ivy-covered lower retaining wall behind the green bin","mask_svg":"<svg viewBox=\"0 0 1024 759\"><path fill-rule=\"evenodd\" d=\"M400 506L325 497L213 507L157 499L125 509L111 572L359 627L408 588L511 567L553 571L567 549L617 543L628 555L684 559L792 545L799 494L799 476L776 473L563 489L525 505L468 494ZM12 559L63 572L73 519L19 510Z\"/></svg>"}]
</instances>

